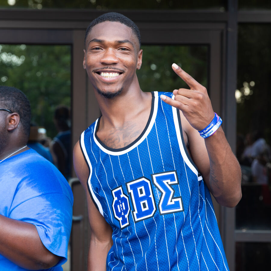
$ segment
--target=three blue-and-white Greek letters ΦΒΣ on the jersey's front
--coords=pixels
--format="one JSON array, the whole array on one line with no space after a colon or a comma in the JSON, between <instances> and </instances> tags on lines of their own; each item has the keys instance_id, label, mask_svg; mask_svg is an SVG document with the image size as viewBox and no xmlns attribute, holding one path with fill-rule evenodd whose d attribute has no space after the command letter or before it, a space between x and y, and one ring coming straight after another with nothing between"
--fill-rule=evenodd
<instances>
[{"instance_id":1,"label":"three blue-and-white Greek letters \u03a6\u0392\u03a3 on the jersey's front","mask_svg":"<svg viewBox=\"0 0 271 271\"><path fill-rule=\"evenodd\" d=\"M160 214L174 213L183 211L182 197L174 198L174 189L172 185L178 185L176 171L152 174L154 185L160 190L159 200ZM138 222L153 217L156 211L156 205L151 187L151 181L142 177L126 183L127 191L131 195L133 205L134 221ZM128 197L123 194L122 187L117 187L112 191L112 208L115 217L120 220L120 227L130 225L128 214L130 211Z\"/></svg>"}]
</instances>

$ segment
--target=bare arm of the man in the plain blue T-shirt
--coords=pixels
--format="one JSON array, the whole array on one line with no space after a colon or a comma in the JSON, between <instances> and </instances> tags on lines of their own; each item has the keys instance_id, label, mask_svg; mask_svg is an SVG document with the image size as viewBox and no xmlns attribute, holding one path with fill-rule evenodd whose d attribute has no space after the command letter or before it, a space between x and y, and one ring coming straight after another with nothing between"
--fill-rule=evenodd
<instances>
[{"instance_id":1,"label":"bare arm of the man in the plain blue T-shirt","mask_svg":"<svg viewBox=\"0 0 271 271\"><path fill-rule=\"evenodd\" d=\"M26 269L47 269L59 257L48 251L31 223L0 215L0 254Z\"/></svg>"}]
</instances>

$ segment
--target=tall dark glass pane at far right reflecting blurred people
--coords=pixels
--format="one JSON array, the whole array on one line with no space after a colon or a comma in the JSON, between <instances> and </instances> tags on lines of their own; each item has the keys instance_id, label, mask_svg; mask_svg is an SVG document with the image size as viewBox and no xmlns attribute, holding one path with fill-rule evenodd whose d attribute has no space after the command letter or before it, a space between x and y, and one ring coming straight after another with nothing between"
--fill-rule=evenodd
<instances>
[{"instance_id":1,"label":"tall dark glass pane at far right reflecting blurred people","mask_svg":"<svg viewBox=\"0 0 271 271\"><path fill-rule=\"evenodd\" d=\"M271 230L271 27L238 28L236 155L242 169L242 199L236 229Z\"/></svg>"}]
</instances>

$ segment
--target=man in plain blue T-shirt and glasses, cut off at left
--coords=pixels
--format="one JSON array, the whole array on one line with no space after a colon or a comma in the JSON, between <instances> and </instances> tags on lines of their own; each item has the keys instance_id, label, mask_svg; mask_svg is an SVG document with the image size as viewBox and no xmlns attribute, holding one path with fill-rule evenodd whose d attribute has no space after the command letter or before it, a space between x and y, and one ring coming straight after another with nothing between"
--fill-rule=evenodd
<instances>
[{"instance_id":1,"label":"man in plain blue T-shirt and glasses, cut off at left","mask_svg":"<svg viewBox=\"0 0 271 271\"><path fill-rule=\"evenodd\" d=\"M0 270L63 270L73 195L59 170L27 147L30 103L0 86Z\"/></svg>"}]
</instances>

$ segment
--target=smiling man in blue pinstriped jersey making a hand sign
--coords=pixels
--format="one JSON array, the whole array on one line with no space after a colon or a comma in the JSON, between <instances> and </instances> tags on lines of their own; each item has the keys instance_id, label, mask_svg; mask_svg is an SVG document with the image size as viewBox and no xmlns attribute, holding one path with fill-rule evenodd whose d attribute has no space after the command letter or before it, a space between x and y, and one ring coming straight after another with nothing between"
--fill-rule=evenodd
<instances>
[{"instance_id":1,"label":"smiling man in blue pinstriped jersey making a hand sign","mask_svg":"<svg viewBox=\"0 0 271 271\"><path fill-rule=\"evenodd\" d=\"M89 270L229 270L210 192L234 207L241 170L207 90L173 64L188 89L142 92L139 29L122 14L93 20L84 52L102 113L73 159L88 201Z\"/></svg>"}]
</instances>

